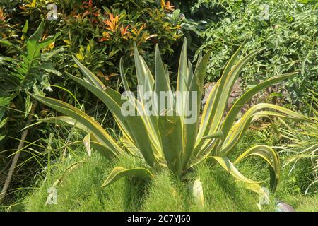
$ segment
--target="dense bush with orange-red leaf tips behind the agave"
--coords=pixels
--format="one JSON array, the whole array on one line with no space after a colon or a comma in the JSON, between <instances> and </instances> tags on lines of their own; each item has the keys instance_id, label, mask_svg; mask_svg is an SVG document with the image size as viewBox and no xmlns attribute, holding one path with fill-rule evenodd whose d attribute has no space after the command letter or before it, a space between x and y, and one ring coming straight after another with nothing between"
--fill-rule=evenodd
<instances>
[{"instance_id":1,"label":"dense bush with orange-red leaf tips behind the agave","mask_svg":"<svg viewBox=\"0 0 318 226\"><path fill-rule=\"evenodd\" d=\"M119 58L124 56L128 63L132 63L129 61L129 47L133 42L145 54L151 53L154 44L158 43L163 53L170 57L174 51L172 45L182 37L181 20L171 21L168 17L174 8L167 9L155 1L23 2L16 15L23 15L35 24L41 18L47 19L48 3L56 4L57 20L48 21L47 32L48 35L61 32L55 46L66 48L55 62L59 71L67 69L75 72L76 67L70 64L69 59L76 54L79 61L114 88L117 87ZM129 79L129 82L134 85L135 78ZM76 94L79 97L81 92Z\"/></svg>"}]
</instances>

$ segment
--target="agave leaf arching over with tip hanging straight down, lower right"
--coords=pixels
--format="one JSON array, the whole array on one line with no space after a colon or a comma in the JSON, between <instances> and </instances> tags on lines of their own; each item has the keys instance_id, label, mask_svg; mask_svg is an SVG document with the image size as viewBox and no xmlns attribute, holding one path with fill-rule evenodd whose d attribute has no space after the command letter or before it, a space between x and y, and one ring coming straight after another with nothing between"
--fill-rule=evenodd
<instances>
[{"instance_id":1,"label":"agave leaf arching over with tip hanging straight down, lower right","mask_svg":"<svg viewBox=\"0 0 318 226\"><path fill-rule=\"evenodd\" d=\"M259 157L262 157L266 162L269 163L269 171L270 171L270 186L271 190L275 191L278 179L279 179L279 158L278 154L273 150L273 148L270 148L267 145L256 145L252 148L249 148L246 150L242 155L237 157L234 164L237 162L240 162L241 160L245 159L248 156L251 155L257 155Z\"/></svg>"}]
</instances>

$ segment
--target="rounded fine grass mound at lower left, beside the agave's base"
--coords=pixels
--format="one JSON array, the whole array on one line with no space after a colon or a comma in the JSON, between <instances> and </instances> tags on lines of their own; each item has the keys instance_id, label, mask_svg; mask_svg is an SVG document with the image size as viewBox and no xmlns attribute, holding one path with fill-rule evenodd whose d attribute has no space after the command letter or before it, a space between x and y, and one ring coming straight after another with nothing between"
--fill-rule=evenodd
<instances>
[{"instance_id":1,"label":"rounded fine grass mound at lower left, beside the agave's base","mask_svg":"<svg viewBox=\"0 0 318 226\"><path fill-rule=\"evenodd\" d=\"M109 206L110 210L122 206L121 198L117 197L118 193L110 190L119 189L122 182L114 184L114 186L100 189L102 183L102 175L107 174L111 169L111 163L102 159L100 155L92 155L92 157L84 157L82 163L74 166L65 172L67 167L73 162L83 160L83 155L74 157L71 161L55 165L54 172L49 174L42 182L42 185L35 190L32 196L26 199L26 211L105 211L105 206ZM65 174L64 174L65 172ZM47 200L47 189L53 186L57 179L64 178L57 189L57 204L45 205ZM105 201L114 201L114 203L105 203Z\"/></svg>"}]
</instances>

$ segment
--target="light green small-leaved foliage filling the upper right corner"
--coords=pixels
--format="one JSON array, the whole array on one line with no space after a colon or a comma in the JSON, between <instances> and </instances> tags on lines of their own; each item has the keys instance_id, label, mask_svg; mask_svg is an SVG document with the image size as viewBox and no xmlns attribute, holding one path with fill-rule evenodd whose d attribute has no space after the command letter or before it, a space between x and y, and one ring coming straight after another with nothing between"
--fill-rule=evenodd
<instances>
[{"instance_id":1,"label":"light green small-leaved foliage filling the upper right corner","mask_svg":"<svg viewBox=\"0 0 318 226\"><path fill-rule=\"evenodd\" d=\"M268 11L266 10L268 6ZM299 70L298 76L279 86L285 102L306 111L308 90L317 90L317 4L298 1L206 1L193 10L208 8L216 18L208 20L202 49L210 49L208 80L216 80L221 66L232 55L233 47L247 41L242 52L266 47L257 64L243 73L244 90L280 73ZM285 92L287 91L287 92ZM303 108L304 107L304 108Z\"/></svg>"}]
</instances>

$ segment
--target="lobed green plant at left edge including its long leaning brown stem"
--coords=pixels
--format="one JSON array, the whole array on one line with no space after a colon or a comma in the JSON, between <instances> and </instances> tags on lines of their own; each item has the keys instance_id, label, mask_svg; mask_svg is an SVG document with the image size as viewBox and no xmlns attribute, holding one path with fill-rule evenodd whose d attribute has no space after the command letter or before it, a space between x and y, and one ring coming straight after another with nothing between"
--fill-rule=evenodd
<instances>
[{"instance_id":1,"label":"lobed green plant at left edge including its long leaning brown stem","mask_svg":"<svg viewBox=\"0 0 318 226\"><path fill-rule=\"evenodd\" d=\"M24 129L18 139L17 148L15 143L9 142L11 138L18 136L23 127L29 127L31 124L37 102L31 102L28 91L33 90L39 95L45 95L44 89L52 91L48 76L50 73L58 73L52 66L51 59L54 57L54 52L49 51L49 46L60 34L51 37L43 36L43 21L30 37L25 35L27 30L28 20L23 28L23 42L20 45L8 40L0 40L0 44L7 46L8 51L13 55L13 57L0 57L0 141L1 150L3 150L1 153L4 153L0 162L2 163L2 160L8 162L6 157L14 154L4 188L1 189L0 201L6 195L13 170L23 151L25 138L30 135L29 129ZM2 117L5 118L2 119ZM27 117L28 119L25 120ZM30 143L34 140L35 137L29 139ZM17 150L16 153L13 153L13 150Z\"/></svg>"}]
</instances>

